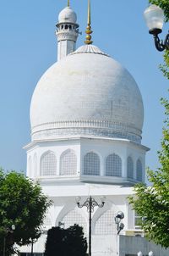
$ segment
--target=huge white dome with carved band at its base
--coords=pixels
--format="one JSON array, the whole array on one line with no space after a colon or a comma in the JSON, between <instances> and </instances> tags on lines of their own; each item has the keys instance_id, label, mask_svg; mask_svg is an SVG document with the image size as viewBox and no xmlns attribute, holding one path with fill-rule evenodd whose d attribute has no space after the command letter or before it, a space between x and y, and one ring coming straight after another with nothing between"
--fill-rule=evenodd
<instances>
[{"instance_id":1,"label":"huge white dome with carved band at its base","mask_svg":"<svg viewBox=\"0 0 169 256\"><path fill-rule=\"evenodd\" d=\"M142 97L134 78L94 46L53 64L35 87L32 139L108 136L140 142Z\"/></svg>"}]
</instances>

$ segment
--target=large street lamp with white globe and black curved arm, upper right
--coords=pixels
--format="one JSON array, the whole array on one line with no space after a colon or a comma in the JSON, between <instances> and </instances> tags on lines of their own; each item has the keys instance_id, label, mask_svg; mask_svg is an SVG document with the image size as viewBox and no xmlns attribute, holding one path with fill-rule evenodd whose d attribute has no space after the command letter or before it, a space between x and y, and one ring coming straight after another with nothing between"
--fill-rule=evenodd
<instances>
[{"instance_id":1,"label":"large street lamp with white globe and black curved arm, upper right","mask_svg":"<svg viewBox=\"0 0 169 256\"><path fill-rule=\"evenodd\" d=\"M160 52L165 49L169 50L169 33L164 41L160 40L158 36L162 32L164 11L159 6L151 4L150 7L144 10L144 19L149 28L149 33L154 36L156 49Z\"/></svg>"}]
</instances>

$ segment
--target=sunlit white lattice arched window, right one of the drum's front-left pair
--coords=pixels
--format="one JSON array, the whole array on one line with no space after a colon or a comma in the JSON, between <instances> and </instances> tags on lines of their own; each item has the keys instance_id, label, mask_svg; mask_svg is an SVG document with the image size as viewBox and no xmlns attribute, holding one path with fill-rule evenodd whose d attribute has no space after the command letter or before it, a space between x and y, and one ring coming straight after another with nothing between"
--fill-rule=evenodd
<instances>
[{"instance_id":1,"label":"sunlit white lattice arched window, right one of the drum's front-left pair","mask_svg":"<svg viewBox=\"0 0 169 256\"><path fill-rule=\"evenodd\" d=\"M77 157L73 150L66 150L60 159L60 175L76 175Z\"/></svg>"}]
</instances>

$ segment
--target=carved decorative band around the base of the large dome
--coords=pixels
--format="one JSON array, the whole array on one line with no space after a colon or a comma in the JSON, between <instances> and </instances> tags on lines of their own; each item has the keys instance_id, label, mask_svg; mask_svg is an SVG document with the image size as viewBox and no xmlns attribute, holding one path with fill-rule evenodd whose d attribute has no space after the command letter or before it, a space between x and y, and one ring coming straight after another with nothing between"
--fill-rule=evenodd
<instances>
[{"instance_id":1,"label":"carved decorative band around the base of the large dome","mask_svg":"<svg viewBox=\"0 0 169 256\"><path fill-rule=\"evenodd\" d=\"M141 131L129 125L102 120L58 121L32 128L32 141L63 136L103 136L141 142Z\"/></svg>"}]
</instances>

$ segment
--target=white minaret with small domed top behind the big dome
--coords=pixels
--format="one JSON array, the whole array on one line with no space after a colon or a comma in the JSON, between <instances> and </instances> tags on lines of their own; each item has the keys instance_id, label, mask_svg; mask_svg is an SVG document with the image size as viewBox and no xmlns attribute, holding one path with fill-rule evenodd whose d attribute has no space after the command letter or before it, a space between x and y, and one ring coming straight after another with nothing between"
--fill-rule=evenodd
<instances>
[{"instance_id":1,"label":"white minaret with small domed top behind the big dome","mask_svg":"<svg viewBox=\"0 0 169 256\"><path fill-rule=\"evenodd\" d=\"M58 16L57 23L57 60L65 58L76 49L76 41L79 35L79 25L76 23L77 16L74 10L68 6L63 8Z\"/></svg>"}]
</instances>

